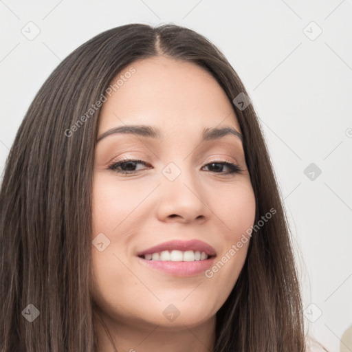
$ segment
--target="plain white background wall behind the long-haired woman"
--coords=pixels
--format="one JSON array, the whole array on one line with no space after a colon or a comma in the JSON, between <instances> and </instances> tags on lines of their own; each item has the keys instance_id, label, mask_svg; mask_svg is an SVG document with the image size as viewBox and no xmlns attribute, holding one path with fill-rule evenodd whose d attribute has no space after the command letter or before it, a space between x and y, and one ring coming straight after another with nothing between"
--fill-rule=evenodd
<instances>
[{"instance_id":1,"label":"plain white background wall behind the long-haired woman","mask_svg":"<svg viewBox=\"0 0 352 352\"><path fill-rule=\"evenodd\" d=\"M1 174L30 102L76 47L126 23L196 30L223 51L261 119L302 254L309 329L330 351L352 351L351 15L351 0L0 1ZM35 26L30 41L22 31Z\"/></svg>"}]
</instances>

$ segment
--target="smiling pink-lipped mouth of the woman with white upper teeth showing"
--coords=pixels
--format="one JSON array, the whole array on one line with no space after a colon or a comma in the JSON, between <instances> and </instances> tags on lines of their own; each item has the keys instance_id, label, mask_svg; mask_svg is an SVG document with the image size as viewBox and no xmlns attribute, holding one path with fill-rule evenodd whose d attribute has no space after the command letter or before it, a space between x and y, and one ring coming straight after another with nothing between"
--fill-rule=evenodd
<instances>
[{"instance_id":1,"label":"smiling pink-lipped mouth of the woman with white upper teeth showing","mask_svg":"<svg viewBox=\"0 0 352 352\"><path fill-rule=\"evenodd\" d=\"M173 276L200 274L216 256L214 248L199 240L169 241L137 253L142 265Z\"/></svg>"}]
</instances>

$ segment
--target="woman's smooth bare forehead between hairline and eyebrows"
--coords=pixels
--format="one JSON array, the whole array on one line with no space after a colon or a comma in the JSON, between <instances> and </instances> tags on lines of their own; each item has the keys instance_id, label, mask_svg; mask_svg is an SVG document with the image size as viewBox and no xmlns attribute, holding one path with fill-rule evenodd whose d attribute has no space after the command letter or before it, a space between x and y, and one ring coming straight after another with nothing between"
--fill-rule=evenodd
<instances>
[{"instance_id":1,"label":"woman's smooth bare forehead between hairline and eyebrows","mask_svg":"<svg viewBox=\"0 0 352 352\"><path fill-rule=\"evenodd\" d=\"M126 74L126 72L133 72ZM111 85L100 111L99 131L123 124L153 124L170 133L203 131L219 124L240 131L232 102L217 80L199 65L155 56L135 61Z\"/></svg>"}]
</instances>

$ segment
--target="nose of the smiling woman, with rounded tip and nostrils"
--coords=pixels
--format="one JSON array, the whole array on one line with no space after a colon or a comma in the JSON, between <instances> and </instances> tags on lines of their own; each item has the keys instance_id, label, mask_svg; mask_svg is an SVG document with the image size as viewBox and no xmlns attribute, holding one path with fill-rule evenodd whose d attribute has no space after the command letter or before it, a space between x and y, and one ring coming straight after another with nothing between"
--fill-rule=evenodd
<instances>
[{"instance_id":1,"label":"nose of the smiling woman, with rounded tip and nostrils","mask_svg":"<svg viewBox=\"0 0 352 352\"><path fill-rule=\"evenodd\" d=\"M158 187L158 219L181 223L208 221L212 215L208 192L206 185L197 182L196 175L190 170L181 170L173 181L164 177Z\"/></svg>"}]
</instances>

